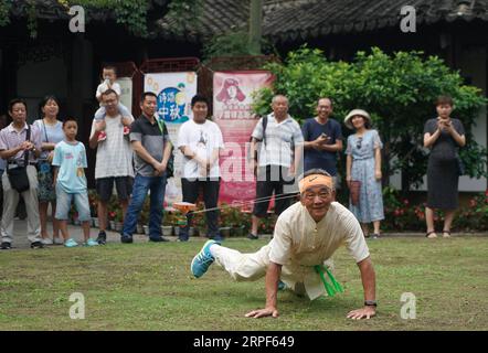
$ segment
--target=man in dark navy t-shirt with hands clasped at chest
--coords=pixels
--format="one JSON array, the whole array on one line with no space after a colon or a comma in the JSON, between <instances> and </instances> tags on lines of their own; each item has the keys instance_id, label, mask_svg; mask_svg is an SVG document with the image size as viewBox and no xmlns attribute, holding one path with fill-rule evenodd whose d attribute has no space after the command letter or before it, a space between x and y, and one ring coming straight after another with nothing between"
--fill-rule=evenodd
<instances>
[{"instance_id":1,"label":"man in dark navy t-shirt with hands clasped at chest","mask_svg":"<svg viewBox=\"0 0 488 353\"><path fill-rule=\"evenodd\" d=\"M337 185L337 152L342 150L342 129L332 115L330 98L317 103L317 117L307 119L301 127L304 135L304 171L323 169L333 176Z\"/></svg>"}]
</instances>

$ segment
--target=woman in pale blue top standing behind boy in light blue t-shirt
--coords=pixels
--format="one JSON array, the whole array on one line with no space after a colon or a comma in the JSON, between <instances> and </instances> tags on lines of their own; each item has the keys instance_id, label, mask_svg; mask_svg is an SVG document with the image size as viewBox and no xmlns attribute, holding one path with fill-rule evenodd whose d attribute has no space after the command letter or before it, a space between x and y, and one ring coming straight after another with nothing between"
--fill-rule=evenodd
<instances>
[{"instance_id":1,"label":"woman in pale blue top standing behind boy in light blue t-shirt","mask_svg":"<svg viewBox=\"0 0 488 353\"><path fill-rule=\"evenodd\" d=\"M56 192L53 186L54 171L51 165L53 161L54 147L64 138L63 124L57 120L60 103L55 96L45 96L40 104L41 119L34 121L42 137L41 157L38 162L39 180L39 216L41 220L41 236L44 245L62 245L60 238L59 222L53 217L53 239L47 236L47 207L51 203L52 214L56 212Z\"/></svg>"}]
</instances>

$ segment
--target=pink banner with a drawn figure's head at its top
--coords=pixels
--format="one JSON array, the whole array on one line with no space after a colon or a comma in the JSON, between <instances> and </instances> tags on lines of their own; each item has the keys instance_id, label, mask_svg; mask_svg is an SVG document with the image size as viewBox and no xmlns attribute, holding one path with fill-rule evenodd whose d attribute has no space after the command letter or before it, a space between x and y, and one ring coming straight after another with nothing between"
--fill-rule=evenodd
<instances>
[{"instance_id":1,"label":"pink banner with a drawn figure's head at its top","mask_svg":"<svg viewBox=\"0 0 488 353\"><path fill-rule=\"evenodd\" d=\"M241 203L255 199L255 179L248 170L251 133L257 120L252 115L253 93L269 87L269 72L220 72L213 76L213 120L225 143L220 160L222 183L220 202Z\"/></svg>"}]
</instances>

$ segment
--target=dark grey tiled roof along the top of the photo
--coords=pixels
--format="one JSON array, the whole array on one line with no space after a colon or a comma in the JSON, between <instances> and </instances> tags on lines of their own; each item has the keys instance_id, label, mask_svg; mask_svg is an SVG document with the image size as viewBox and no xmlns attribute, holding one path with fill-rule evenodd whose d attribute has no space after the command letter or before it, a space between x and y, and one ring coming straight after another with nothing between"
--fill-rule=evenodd
<instances>
[{"instance_id":1,"label":"dark grey tiled roof along the top of the photo","mask_svg":"<svg viewBox=\"0 0 488 353\"><path fill-rule=\"evenodd\" d=\"M185 25L184 38L198 40L231 29L246 29L248 1L202 0L200 20ZM265 0L263 34L274 41L306 40L331 33L364 32L400 25L401 9L415 7L417 24L488 21L488 0ZM462 10L462 14L458 14ZM157 35L174 38L173 19L157 22Z\"/></svg>"}]
</instances>

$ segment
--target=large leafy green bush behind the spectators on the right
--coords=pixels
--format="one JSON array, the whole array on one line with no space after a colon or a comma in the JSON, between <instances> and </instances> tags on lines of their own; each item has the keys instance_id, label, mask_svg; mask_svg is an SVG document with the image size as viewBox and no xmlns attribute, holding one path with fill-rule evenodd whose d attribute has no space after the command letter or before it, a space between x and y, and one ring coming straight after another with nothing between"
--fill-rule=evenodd
<instances>
[{"instance_id":1,"label":"large leafy green bush behind the spectators on the right","mask_svg":"<svg viewBox=\"0 0 488 353\"><path fill-rule=\"evenodd\" d=\"M297 120L315 115L317 98L333 99L335 117L341 121L354 108L370 113L374 128L385 142L384 175L402 171L403 190L418 186L425 175L427 150L423 148L423 128L436 116L434 101L447 94L455 100L453 117L466 128L467 147L460 156L471 178L487 176L487 150L473 138L475 119L487 100L479 88L464 84L459 72L435 56L422 52L389 55L378 47L358 52L351 63L330 62L320 50L307 46L290 52L285 63L265 68L276 75L273 89L256 94L254 109L269 110L275 93L289 98L290 114Z\"/></svg>"}]
</instances>

